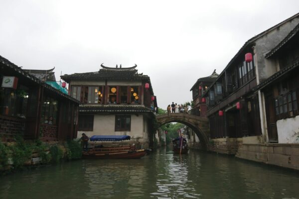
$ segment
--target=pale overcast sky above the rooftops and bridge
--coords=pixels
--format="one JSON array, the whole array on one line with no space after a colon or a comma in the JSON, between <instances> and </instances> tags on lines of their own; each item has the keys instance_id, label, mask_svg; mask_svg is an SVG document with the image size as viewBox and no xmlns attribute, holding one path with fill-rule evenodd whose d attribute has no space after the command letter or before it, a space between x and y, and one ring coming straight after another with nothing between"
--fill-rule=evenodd
<instances>
[{"instance_id":1,"label":"pale overcast sky above the rooftops and bridge","mask_svg":"<svg viewBox=\"0 0 299 199\"><path fill-rule=\"evenodd\" d=\"M0 0L0 55L60 73L131 67L159 107L192 100L251 37L299 12L299 0Z\"/></svg>"}]
</instances>

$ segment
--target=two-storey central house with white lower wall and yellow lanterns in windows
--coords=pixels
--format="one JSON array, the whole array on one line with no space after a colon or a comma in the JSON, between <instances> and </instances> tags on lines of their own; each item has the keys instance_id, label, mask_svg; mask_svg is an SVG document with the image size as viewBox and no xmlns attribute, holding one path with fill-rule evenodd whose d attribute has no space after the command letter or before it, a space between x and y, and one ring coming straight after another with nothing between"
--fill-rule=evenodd
<instances>
[{"instance_id":1,"label":"two-storey central house with white lower wall and yellow lanterns in windows","mask_svg":"<svg viewBox=\"0 0 299 199\"><path fill-rule=\"evenodd\" d=\"M149 147L156 98L149 76L130 68L106 67L97 72L63 75L70 95L82 102L79 131L92 135L130 135L131 141Z\"/></svg>"}]
</instances>

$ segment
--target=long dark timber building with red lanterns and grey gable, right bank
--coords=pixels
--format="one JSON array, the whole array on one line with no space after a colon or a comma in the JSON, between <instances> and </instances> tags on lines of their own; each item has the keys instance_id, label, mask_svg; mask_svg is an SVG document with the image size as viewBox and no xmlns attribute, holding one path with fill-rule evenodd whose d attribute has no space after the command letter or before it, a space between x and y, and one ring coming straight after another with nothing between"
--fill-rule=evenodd
<instances>
[{"instance_id":1,"label":"long dark timber building with red lanterns and grey gable, right bank","mask_svg":"<svg viewBox=\"0 0 299 199\"><path fill-rule=\"evenodd\" d=\"M275 136L272 136L274 139L268 136L272 127L267 126L264 117L265 107L269 111L271 104L265 103L263 92L256 87L268 82L268 78L278 71L277 64L269 64L277 62L274 61L277 59L265 59L265 55L298 23L299 13L249 39L203 95L207 101L210 134L216 151L235 154L240 143L278 142ZM274 97L278 98L277 95ZM282 98L282 101L286 98ZM275 119L271 122L275 122Z\"/></svg>"}]
</instances>

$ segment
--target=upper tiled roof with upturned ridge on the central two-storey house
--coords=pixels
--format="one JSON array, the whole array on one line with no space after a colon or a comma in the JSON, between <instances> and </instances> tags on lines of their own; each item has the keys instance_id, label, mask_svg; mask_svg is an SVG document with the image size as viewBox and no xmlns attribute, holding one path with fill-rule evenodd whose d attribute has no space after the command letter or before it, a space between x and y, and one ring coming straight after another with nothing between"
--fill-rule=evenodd
<instances>
[{"instance_id":1,"label":"upper tiled roof with upturned ridge on the central two-storey house","mask_svg":"<svg viewBox=\"0 0 299 199\"><path fill-rule=\"evenodd\" d=\"M149 76L138 74L135 67L131 68L109 68L103 67L98 72L74 73L63 75L61 78L66 82L71 80L149 80ZM130 70L128 70L130 69Z\"/></svg>"}]
</instances>

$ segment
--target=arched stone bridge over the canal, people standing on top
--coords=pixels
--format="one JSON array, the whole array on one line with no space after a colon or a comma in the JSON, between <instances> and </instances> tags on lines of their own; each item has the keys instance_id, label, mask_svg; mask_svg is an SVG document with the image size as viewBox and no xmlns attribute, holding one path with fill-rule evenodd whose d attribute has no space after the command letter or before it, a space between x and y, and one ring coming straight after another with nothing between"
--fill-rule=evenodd
<instances>
[{"instance_id":1,"label":"arched stone bridge over the canal, people standing on top","mask_svg":"<svg viewBox=\"0 0 299 199\"><path fill-rule=\"evenodd\" d=\"M210 129L209 120L207 118L186 113L170 113L169 116L167 114L157 115L156 119L159 125L169 122L179 122L189 126L199 138L202 149L208 149Z\"/></svg>"}]
</instances>

